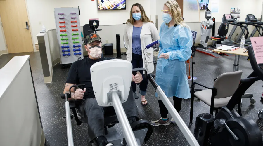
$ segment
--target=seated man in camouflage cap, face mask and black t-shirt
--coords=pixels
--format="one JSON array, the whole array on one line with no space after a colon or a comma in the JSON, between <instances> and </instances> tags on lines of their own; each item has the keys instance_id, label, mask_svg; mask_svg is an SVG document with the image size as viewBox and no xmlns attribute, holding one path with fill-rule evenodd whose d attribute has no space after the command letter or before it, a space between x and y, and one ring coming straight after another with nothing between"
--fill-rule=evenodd
<instances>
[{"instance_id":1,"label":"seated man in camouflage cap, face mask and black t-shirt","mask_svg":"<svg viewBox=\"0 0 263 146\"><path fill-rule=\"evenodd\" d=\"M104 113L107 110L113 109L113 106L101 107L98 105L92 88L90 68L96 62L114 58L101 57L101 39L98 34L89 34L86 36L85 48L88 51L89 57L78 60L71 65L64 94L69 93L70 86L72 85L85 84L84 90L80 88L71 88L71 99L69 100L76 100L76 105L79 106L81 112L81 120L88 124L89 142L96 139L99 146L108 146L111 144L109 144L105 138ZM141 83L142 80L143 77L140 72L137 72L135 76L132 75L132 81L135 83ZM134 95L131 88L128 100L124 102L122 106L130 124L138 120L138 113L136 111Z\"/></svg>"}]
</instances>

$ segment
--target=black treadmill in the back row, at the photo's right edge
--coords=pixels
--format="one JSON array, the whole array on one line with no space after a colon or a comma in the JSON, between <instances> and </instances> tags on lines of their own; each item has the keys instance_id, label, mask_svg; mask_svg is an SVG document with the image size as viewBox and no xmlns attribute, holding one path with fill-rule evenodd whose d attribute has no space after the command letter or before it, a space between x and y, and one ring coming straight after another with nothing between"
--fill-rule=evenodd
<instances>
[{"instance_id":1,"label":"black treadmill in the back row, at the photo's right edge","mask_svg":"<svg viewBox=\"0 0 263 146\"><path fill-rule=\"evenodd\" d=\"M246 17L246 19L245 19L245 22L246 22L246 23L255 24L255 25L260 25L260 26L263 25L263 22L259 21L259 20L255 17L255 15L253 15L253 14L248 14L247 17ZM255 25L253 25L253 26L255 26ZM248 26L248 24L246 24L245 26ZM262 36L262 33L260 33L260 29L263 30L262 27L257 27L257 26L255 26L255 28L254 28L254 30L252 31L252 33L250 34L250 36L248 36L248 39L246 40L246 44L248 44L248 43L251 44L250 37L253 37L256 32L259 33L259 36ZM236 42L237 42L237 43L241 41L242 36L243 36L243 33L242 33L242 31L241 31L241 32L239 33L239 35L238 35L238 38L236 39Z\"/></svg>"}]
</instances>

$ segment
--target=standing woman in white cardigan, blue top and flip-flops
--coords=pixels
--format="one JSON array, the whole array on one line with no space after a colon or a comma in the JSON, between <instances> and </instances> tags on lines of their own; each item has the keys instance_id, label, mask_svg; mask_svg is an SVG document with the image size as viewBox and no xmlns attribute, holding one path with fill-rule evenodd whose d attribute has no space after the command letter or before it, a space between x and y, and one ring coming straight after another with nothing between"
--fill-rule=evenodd
<instances>
[{"instance_id":1,"label":"standing woman in white cardigan, blue top and flip-flops","mask_svg":"<svg viewBox=\"0 0 263 146\"><path fill-rule=\"evenodd\" d=\"M148 73L153 68L153 48L144 49L148 44L159 39L158 31L152 21L146 16L141 4L131 6L130 19L127 20L124 30L124 41L127 45L127 60L133 68L143 67ZM141 72L143 74L143 72ZM140 84L141 104L147 105L145 99L148 80L143 79ZM136 84L132 83L132 91L136 93Z\"/></svg>"}]
</instances>

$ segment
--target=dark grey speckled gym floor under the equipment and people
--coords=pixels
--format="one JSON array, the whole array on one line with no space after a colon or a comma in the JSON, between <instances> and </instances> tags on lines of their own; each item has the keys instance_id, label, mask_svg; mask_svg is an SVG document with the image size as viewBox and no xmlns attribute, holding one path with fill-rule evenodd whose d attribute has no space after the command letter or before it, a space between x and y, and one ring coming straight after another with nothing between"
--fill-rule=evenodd
<instances>
[{"instance_id":1,"label":"dark grey speckled gym floor under the equipment and people","mask_svg":"<svg viewBox=\"0 0 263 146\"><path fill-rule=\"evenodd\" d=\"M65 116L63 109L64 100L60 98L63 93L65 81L69 71L69 67L62 68L59 64L55 65L53 69L53 80L50 84L44 84L44 77L41 67L39 52L31 53L16 53L16 54L4 54L0 56L0 69L14 56L30 55L30 61L32 65L32 72L34 83L36 87L37 100L39 104L39 110L41 114L42 124L44 128L44 134L46 136L47 146L67 145L66 134L66 121L62 119ZM107 56L105 56L107 57ZM112 56L109 56L112 57ZM126 56L122 55L122 59L126 59ZM213 80L220 74L225 72L232 72L234 57L223 56L222 58L213 58L211 56L196 52L194 57L196 62L194 66L194 76L198 79L197 82L203 83L207 86L213 86ZM240 57L239 70L243 71L242 78L246 78L251 72L252 67L250 62L246 60L246 57ZM186 63L187 67L188 64ZM189 85L191 81L189 81ZM262 95L263 81L257 81L253 84L246 93L253 93L256 100L255 105L250 105L249 99L243 99L242 114L252 118L263 131L262 119L258 119L256 112L262 109L263 101L260 101ZM139 91L139 87L137 87ZM138 113L140 119L146 119L149 121L160 118L160 111L158 107L158 101L155 98L154 88L148 83L148 92L146 99L148 100L147 106L142 106L140 99L136 100L138 105ZM138 92L137 92L138 93ZM170 98L172 100L172 98ZM209 112L210 107L205 103L195 100L193 123L195 123L195 117L198 114ZM185 121L186 125L193 132L194 124L189 124L190 115L190 100L183 100L181 117ZM170 116L169 116L170 117ZM90 145L87 138L87 125L82 124L77 126L76 122L72 120L72 128L74 135L75 145ZM116 125L117 131L122 135L120 126ZM159 126L153 127L153 134L148 142L148 145L189 145L184 138L183 134L179 130L177 125Z\"/></svg>"}]
</instances>

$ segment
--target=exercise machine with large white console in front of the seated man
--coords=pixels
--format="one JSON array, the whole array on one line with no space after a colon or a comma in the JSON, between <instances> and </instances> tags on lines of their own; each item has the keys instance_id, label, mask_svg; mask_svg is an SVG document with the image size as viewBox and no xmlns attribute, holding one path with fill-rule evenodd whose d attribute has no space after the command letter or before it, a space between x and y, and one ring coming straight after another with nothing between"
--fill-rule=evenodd
<instances>
[{"instance_id":1,"label":"exercise machine with large white console in front of the seated man","mask_svg":"<svg viewBox=\"0 0 263 146\"><path fill-rule=\"evenodd\" d=\"M120 72L119 69L122 70L122 72ZM141 70L146 72L143 68L132 69L131 63L126 60L107 60L97 62L91 66L91 81L98 104L100 106L114 107L114 111L110 112L111 114L104 115L105 137L114 145L141 145L143 141L147 143L153 132L152 126L147 120L139 120L130 125L122 107L122 103L127 101L129 95L131 72ZM108 73L107 76L105 76L105 72ZM101 75L103 73L104 75ZM147 72L145 73L145 77L147 78ZM84 86L85 84L73 85L70 89L73 87L84 89ZM65 118L67 121L68 145L73 146L71 119L74 116L77 125L82 124L82 121L78 118L75 110L77 103L75 103L75 101L68 101L70 96L71 90L70 93L63 94L62 98L66 100ZM70 109L72 110L73 116L70 113ZM118 119L118 121L116 121L116 119ZM114 127L117 123L120 123L122 127L122 132L125 137L123 142L121 142L120 136ZM96 146L96 140L93 142L92 145Z\"/></svg>"}]
</instances>

